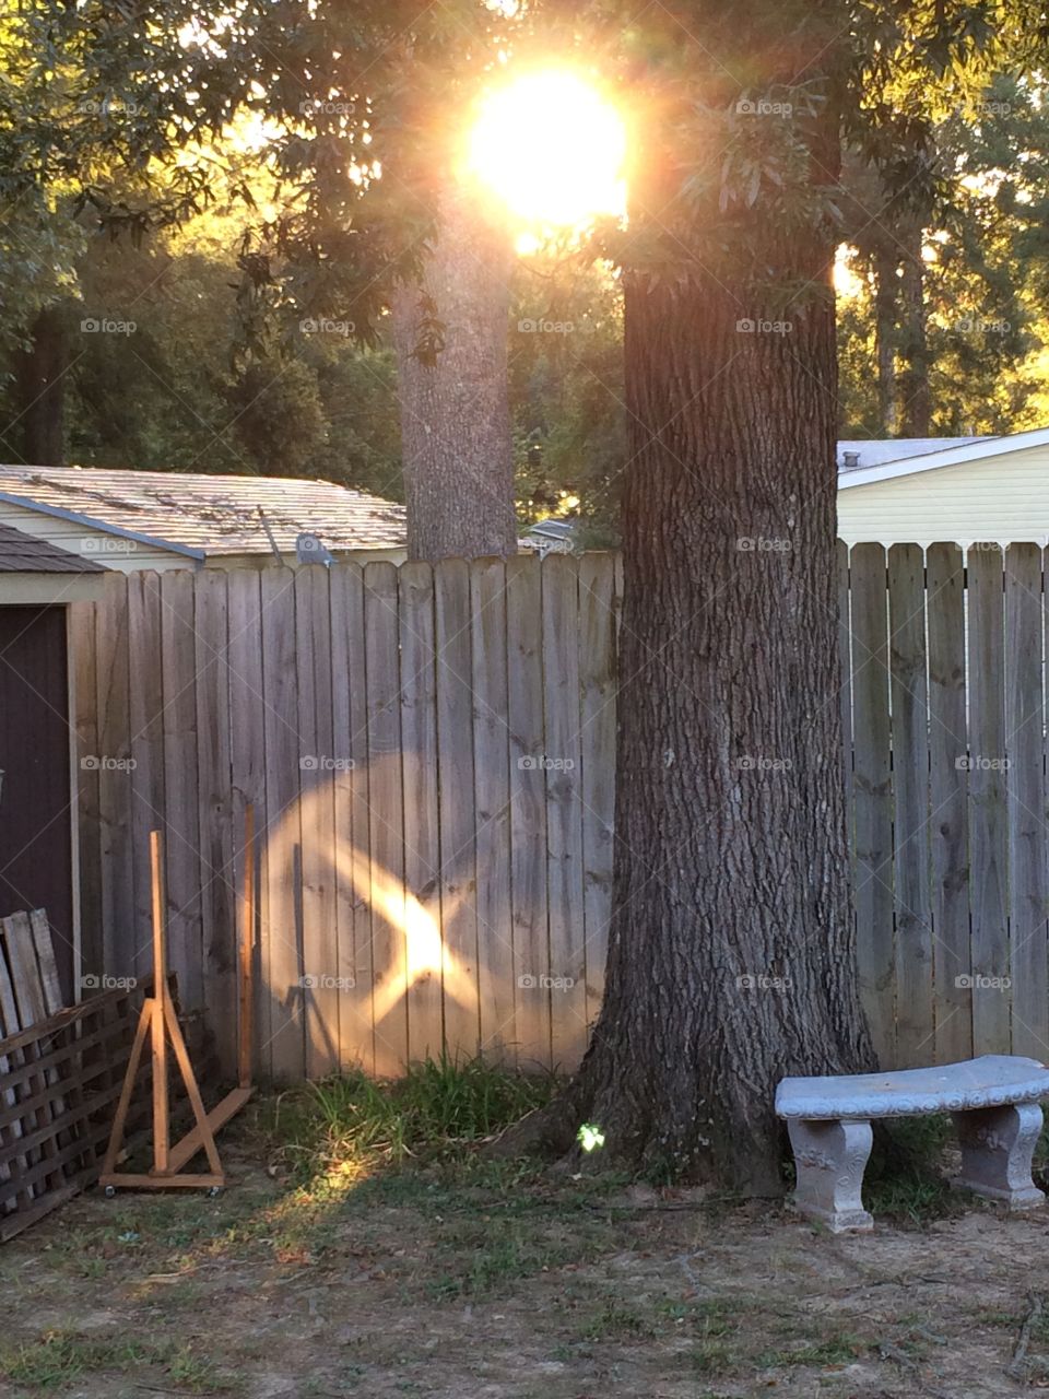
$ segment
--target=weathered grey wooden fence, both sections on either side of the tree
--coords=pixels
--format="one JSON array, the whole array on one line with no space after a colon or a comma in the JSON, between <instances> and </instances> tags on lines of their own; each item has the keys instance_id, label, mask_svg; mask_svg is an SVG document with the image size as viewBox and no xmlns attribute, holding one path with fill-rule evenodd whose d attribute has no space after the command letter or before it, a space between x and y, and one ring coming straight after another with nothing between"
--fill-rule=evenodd
<instances>
[{"instance_id":1,"label":"weathered grey wooden fence, both sections on either side of the tree","mask_svg":"<svg viewBox=\"0 0 1049 1399\"><path fill-rule=\"evenodd\" d=\"M860 977L887 1063L1049 1058L1043 558L842 546ZM113 575L76 604L84 968L172 964L229 1055L243 811L260 1072L572 1066L603 989L617 561Z\"/></svg>"}]
</instances>

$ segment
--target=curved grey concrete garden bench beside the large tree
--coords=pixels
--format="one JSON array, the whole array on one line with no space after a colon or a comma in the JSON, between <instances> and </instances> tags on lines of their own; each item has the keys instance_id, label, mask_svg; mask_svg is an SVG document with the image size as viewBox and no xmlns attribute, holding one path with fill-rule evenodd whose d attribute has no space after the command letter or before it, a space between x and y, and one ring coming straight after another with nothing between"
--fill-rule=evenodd
<instances>
[{"instance_id":1,"label":"curved grey concrete garden bench beside the large tree","mask_svg":"<svg viewBox=\"0 0 1049 1399\"><path fill-rule=\"evenodd\" d=\"M962 1151L954 1184L1011 1209L1042 1205L1045 1195L1031 1179L1041 1098L1049 1098L1049 1069L1000 1053L937 1069L783 1079L776 1114L794 1151L794 1203L835 1234L873 1228L862 1198L871 1119L950 1112Z\"/></svg>"}]
</instances>

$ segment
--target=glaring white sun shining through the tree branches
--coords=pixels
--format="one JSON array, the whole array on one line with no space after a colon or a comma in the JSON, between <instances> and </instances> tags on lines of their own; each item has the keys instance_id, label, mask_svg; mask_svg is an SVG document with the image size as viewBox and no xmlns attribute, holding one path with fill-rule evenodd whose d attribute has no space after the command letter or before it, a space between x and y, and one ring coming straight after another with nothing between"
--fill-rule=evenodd
<instances>
[{"instance_id":1,"label":"glaring white sun shining through the tree branches","mask_svg":"<svg viewBox=\"0 0 1049 1399\"><path fill-rule=\"evenodd\" d=\"M469 165L526 224L572 228L622 214L622 118L578 73L523 73L481 102Z\"/></svg>"}]
</instances>

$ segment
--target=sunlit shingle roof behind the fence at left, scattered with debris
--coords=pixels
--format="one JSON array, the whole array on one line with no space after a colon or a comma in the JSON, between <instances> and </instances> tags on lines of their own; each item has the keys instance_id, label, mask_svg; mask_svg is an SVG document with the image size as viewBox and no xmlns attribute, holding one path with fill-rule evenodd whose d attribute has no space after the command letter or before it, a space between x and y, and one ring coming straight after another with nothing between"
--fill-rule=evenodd
<instances>
[{"instance_id":1,"label":"sunlit shingle roof behind the fence at left, scattered with debris","mask_svg":"<svg viewBox=\"0 0 1049 1399\"><path fill-rule=\"evenodd\" d=\"M331 481L0 466L0 494L206 554L270 553L266 525L291 554L306 530L330 550L401 548L406 539L403 505Z\"/></svg>"}]
</instances>

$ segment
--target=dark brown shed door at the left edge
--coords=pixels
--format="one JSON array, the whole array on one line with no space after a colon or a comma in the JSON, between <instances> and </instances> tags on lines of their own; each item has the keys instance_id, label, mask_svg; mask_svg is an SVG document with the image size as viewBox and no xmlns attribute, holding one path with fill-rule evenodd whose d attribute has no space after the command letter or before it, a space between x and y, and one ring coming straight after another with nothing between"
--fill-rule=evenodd
<instances>
[{"instance_id":1,"label":"dark brown shed door at the left edge","mask_svg":"<svg viewBox=\"0 0 1049 1399\"><path fill-rule=\"evenodd\" d=\"M0 915L46 908L73 1002L73 837L63 607L0 607Z\"/></svg>"}]
</instances>

